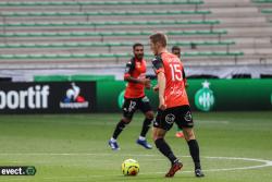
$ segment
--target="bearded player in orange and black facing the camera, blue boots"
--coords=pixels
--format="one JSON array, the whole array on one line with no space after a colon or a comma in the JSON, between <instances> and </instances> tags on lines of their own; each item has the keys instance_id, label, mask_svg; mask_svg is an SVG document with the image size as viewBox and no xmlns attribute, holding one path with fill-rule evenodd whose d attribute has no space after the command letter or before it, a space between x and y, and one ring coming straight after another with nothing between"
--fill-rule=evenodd
<instances>
[{"instance_id":1,"label":"bearded player in orange and black facing the camera, blue boots","mask_svg":"<svg viewBox=\"0 0 272 182\"><path fill-rule=\"evenodd\" d=\"M145 95L145 88L150 89L151 85L150 80L146 78L147 68L146 60L144 59L144 45L135 44L133 46L133 52L134 57L126 64L124 73L124 80L128 83L124 95L123 118L116 124L112 137L109 141L109 145L113 150L120 149L116 138L124 128L132 121L133 114L137 109L145 113L145 120L136 143L147 149L152 148L146 139L146 134L151 125L154 114L149 104L149 99Z\"/></svg>"}]
</instances>

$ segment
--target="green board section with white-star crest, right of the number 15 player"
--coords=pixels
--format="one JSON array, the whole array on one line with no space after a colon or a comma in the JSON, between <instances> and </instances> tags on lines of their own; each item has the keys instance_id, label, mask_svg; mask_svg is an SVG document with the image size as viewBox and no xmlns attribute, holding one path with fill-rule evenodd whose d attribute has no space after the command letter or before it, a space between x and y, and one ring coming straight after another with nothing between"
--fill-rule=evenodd
<instances>
[{"instance_id":1,"label":"green board section with white-star crest, right of the number 15 player","mask_svg":"<svg viewBox=\"0 0 272 182\"><path fill-rule=\"evenodd\" d=\"M188 83L194 110L272 110L272 80L191 80Z\"/></svg>"}]
</instances>

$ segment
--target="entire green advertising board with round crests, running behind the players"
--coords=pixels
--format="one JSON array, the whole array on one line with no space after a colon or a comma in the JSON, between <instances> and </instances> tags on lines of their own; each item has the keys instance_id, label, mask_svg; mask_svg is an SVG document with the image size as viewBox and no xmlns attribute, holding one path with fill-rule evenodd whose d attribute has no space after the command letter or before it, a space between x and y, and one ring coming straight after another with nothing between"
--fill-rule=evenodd
<instances>
[{"instance_id":1,"label":"entire green advertising board with round crests, running behind the players","mask_svg":"<svg viewBox=\"0 0 272 182\"><path fill-rule=\"evenodd\" d=\"M121 112L125 84L98 82L97 111ZM272 80L188 80L186 89L193 110L272 110ZM152 90L146 94L156 110L158 94Z\"/></svg>"}]
</instances>

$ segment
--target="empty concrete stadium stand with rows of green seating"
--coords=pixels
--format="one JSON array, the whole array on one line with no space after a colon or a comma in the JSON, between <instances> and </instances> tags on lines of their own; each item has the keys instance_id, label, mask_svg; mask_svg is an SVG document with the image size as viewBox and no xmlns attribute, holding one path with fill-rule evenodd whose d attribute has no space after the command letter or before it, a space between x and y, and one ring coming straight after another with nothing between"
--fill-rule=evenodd
<instances>
[{"instance_id":1,"label":"empty concrete stadium stand with rows of green seating","mask_svg":"<svg viewBox=\"0 0 272 182\"><path fill-rule=\"evenodd\" d=\"M4 0L0 68L121 68L135 41L151 58L153 32L180 45L188 66L269 64L269 5L270 0Z\"/></svg>"}]
</instances>

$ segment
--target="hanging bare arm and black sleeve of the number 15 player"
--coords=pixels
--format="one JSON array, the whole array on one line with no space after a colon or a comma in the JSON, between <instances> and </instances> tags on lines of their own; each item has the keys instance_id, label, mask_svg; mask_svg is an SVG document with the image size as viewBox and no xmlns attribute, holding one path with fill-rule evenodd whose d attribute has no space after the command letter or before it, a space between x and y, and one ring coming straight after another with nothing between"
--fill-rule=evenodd
<instances>
[{"instance_id":1,"label":"hanging bare arm and black sleeve of the number 15 player","mask_svg":"<svg viewBox=\"0 0 272 182\"><path fill-rule=\"evenodd\" d=\"M164 90L165 90L165 75L162 59L157 57L153 61L153 70L158 76L158 85L153 87L154 90L159 90L159 108L164 110L166 105L164 102Z\"/></svg>"}]
</instances>

